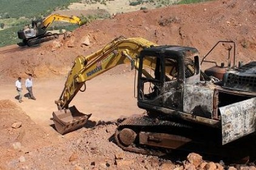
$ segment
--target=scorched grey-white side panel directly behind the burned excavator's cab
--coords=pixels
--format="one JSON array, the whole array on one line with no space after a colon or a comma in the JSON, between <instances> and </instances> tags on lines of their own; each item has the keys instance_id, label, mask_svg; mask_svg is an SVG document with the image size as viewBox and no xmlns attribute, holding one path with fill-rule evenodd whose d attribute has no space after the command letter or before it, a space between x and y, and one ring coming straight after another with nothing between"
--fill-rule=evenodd
<instances>
[{"instance_id":1,"label":"scorched grey-white side panel directly behind the burned excavator's cab","mask_svg":"<svg viewBox=\"0 0 256 170\"><path fill-rule=\"evenodd\" d=\"M195 116L212 118L214 88L198 83L186 85L183 93L183 111Z\"/></svg>"}]
</instances>

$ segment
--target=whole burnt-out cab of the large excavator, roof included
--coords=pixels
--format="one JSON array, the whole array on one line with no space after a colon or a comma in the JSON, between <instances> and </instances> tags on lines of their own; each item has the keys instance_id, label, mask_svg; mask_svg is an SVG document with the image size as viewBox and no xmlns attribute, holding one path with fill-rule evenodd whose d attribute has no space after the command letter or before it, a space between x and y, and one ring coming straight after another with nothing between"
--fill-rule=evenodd
<instances>
[{"instance_id":1,"label":"whole burnt-out cab of the large excavator, roof included","mask_svg":"<svg viewBox=\"0 0 256 170\"><path fill-rule=\"evenodd\" d=\"M178 46L147 48L141 51L138 74L141 108L149 111L157 106L182 111L184 83L200 81L198 51Z\"/></svg>"}]
</instances>

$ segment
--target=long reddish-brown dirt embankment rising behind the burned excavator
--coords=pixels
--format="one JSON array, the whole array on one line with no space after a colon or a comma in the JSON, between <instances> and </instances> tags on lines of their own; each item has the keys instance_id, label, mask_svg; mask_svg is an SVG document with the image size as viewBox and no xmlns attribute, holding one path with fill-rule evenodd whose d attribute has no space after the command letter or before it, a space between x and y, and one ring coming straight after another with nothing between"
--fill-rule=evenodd
<instances>
[{"instance_id":1,"label":"long reddish-brown dirt embankment rising behind the burned excavator","mask_svg":"<svg viewBox=\"0 0 256 170\"><path fill-rule=\"evenodd\" d=\"M34 48L2 48L0 70L8 77L25 77L26 73L37 77L67 74L76 56L95 52L121 35L127 38L140 36L160 45L193 46L201 55L217 41L235 41L237 61L248 62L256 55L255 6L254 0L226 0L118 14L112 19L83 25L68 41L60 37L61 45L54 51L52 42ZM90 45L81 47L84 36L89 36ZM212 56L217 62L226 60L223 58L224 52L218 50Z\"/></svg>"}]
</instances>

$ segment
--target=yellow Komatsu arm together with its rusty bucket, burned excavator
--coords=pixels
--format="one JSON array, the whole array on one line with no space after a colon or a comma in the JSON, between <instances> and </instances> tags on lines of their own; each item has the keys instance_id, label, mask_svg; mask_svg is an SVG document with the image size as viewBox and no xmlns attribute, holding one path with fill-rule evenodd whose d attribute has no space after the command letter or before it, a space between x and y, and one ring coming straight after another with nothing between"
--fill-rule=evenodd
<instances>
[{"instance_id":1,"label":"yellow Komatsu arm together with its rusty bucket, burned excavator","mask_svg":"<svg viewBox=\"0 0 256 170\"><path fill-rule=\"evenodd\" d=\"M132 63L132 67L138 68L139 61L136 56L140 54L143 48L149 48L152 45L157 44L143 38L126 39L121 36L89 56L76 57L61 96L55 101L58 111L53 112L53 121L57 131L61 134L73 131L83 126L89 119L90 115L80 113L75 106L69 107L69 103L78 91L86 90L87 80L93 79L120 64ZM150 68L150 65L147 67ZM150 77L146 70L143 74Z\"/></svg>"}]
</instances>

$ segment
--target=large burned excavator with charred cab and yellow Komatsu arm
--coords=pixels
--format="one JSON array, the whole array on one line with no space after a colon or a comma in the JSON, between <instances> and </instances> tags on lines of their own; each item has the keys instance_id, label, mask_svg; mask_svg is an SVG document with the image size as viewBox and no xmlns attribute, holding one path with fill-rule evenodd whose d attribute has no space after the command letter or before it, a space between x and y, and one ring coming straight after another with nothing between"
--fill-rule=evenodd
<instances>
[{"instance_id":1,"label":"large burned excavator with charred cab and yellow Komatsu arm","mask_svg":"<svg viewBox=\"0 0 256 170\"><path fill-rule=\"evenodd\" d=\"M73 97L79 90L86 90L87 80L130 62L138 70L138 106L147 114L127 118L118 125L114 135L118 146L153 155L161 155L166 149L195 148L198 152L232 155L237 150L234 146L240 146L240 139L255 132L256 127L256 62L236 67L235 44L233 49L234 65L231 67L230 48L227 67L215 65L206 70L211 73L207 76L200 70L194 47L116 38L102 50L75 59L64 90L55 101L55 127L64 134L84 126L90 115L69 107Z\"/></svg>"}]
</instances>

